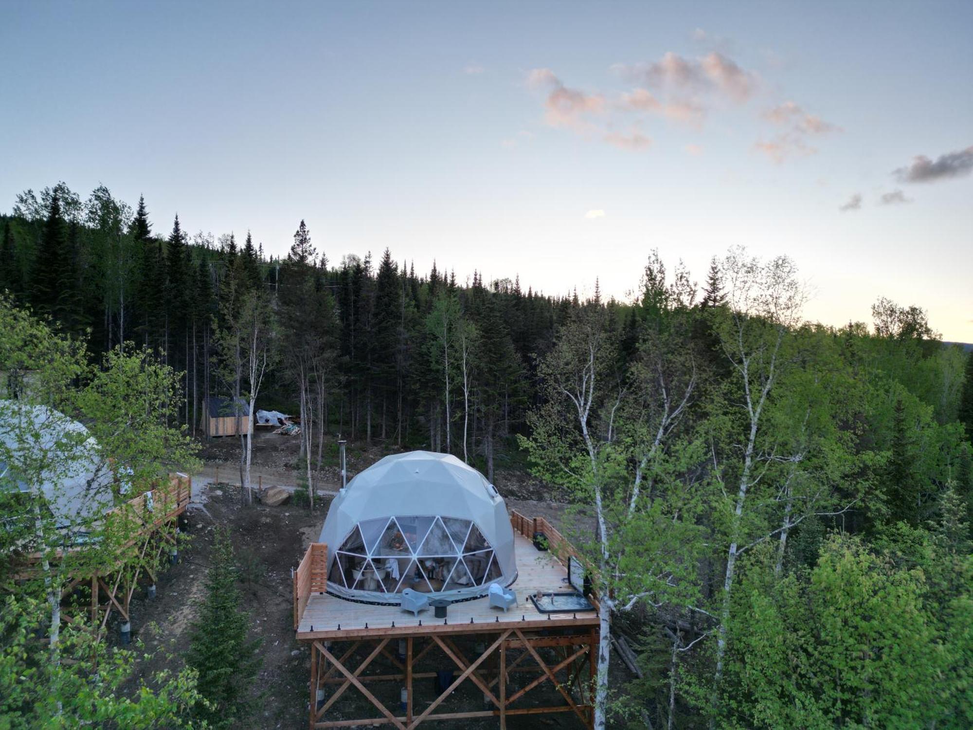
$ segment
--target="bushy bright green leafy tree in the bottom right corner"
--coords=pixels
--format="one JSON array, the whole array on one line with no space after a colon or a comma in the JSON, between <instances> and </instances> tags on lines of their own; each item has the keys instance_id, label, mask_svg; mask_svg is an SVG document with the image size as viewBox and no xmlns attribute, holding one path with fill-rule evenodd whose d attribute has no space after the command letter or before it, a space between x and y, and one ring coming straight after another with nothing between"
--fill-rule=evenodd
<instances>
[{"instance_id":1,"label":"bushy bright green leafy tree in the bottom right corner","mask_svg":"<svg viewBox=\"0 0 973 730\"><path fill-rule=\"evenodd\" d=\"M732 598L720 727L966 726L968 685L943 680L970 655L969 616L944 632L921 569L837 535L812 569L772 564L755 555Z\"/></svg>"}]
</instances>

